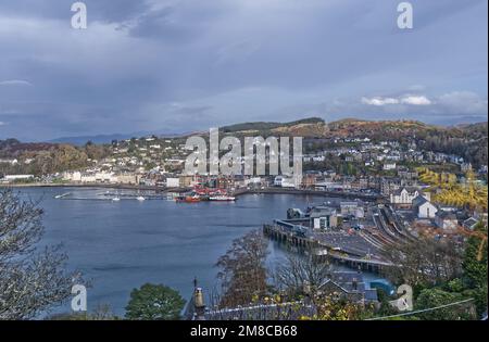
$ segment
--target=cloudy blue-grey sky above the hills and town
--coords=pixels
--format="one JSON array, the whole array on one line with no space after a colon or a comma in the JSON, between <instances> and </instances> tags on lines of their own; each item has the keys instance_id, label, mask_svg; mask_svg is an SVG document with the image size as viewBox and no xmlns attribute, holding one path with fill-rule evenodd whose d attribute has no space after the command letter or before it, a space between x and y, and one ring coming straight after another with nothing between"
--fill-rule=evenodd
<instances>
[{"instance_id":1,"label":"cloudy blue-grey sky above the hills and town","mask_svg":"<svg viewBox=\"0 0 489 342\"><path fill-rule=\"evenodd\" d=\"M488 1L0 0L0 139L487 121Z\"/></svg>"}]
</instances>

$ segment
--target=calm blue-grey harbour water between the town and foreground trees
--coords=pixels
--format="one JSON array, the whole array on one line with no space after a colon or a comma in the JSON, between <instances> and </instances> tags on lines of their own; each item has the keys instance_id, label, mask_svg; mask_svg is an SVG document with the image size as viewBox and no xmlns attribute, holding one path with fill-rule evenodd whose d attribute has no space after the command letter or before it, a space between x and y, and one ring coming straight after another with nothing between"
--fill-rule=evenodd
<instances>
[{"instance_id":1,"label":"calm blue-grey harbour water between the town and foreground trees","mask_svg":"<svg viewBox=\"0 0 489 342\"><path fill-rule=\"evenodd\" d=\"M208 290L216 286L214 267L231 241L264 223L284 218L289 207L303 208L333 199L247 194L236 202L176 203L165 200L111 201L106 190L86 188L24 188L22 197L41 199L46 233L42 244L63 243L68 268L92 283L88 309L108 304L124 314L130 291L146 282L164 283L186 299L192 280ZM57 195L70 193L63 198ZM127 193L127 191L125 191ZM77 200L78 199L78 200ZM104 200L102 200L104 199ZM284 258L269 245L268 265ZM67 304L58 312L68 312Z\"/></svg>"}]
</instances>

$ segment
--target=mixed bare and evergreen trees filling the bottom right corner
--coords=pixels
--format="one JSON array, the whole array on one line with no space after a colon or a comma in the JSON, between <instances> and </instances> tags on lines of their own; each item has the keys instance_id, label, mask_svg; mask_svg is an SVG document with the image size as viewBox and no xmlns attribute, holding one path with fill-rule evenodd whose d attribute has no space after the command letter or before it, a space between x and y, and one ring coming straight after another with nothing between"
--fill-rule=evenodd
<instances>
[{"instance_id":1,"label":"mixed bare and evergreen trees filling the bottom right corner","mask_svg":"<svg viewBox=\"0 0 489 342\"><path fill-rule=\"evenodd\" d=\"M487 227L481 224L475 230L487 235ZM484 248L481 259L480 248ZM437 241L422 236L418 241L391 246L385 253L401 266L391 268L388 276L415 288L415 309L474 300L406 319L477 319L487 311L487 243L480 237L469 237L463 251L450 239Z\"/></svg>"}]
</instances>

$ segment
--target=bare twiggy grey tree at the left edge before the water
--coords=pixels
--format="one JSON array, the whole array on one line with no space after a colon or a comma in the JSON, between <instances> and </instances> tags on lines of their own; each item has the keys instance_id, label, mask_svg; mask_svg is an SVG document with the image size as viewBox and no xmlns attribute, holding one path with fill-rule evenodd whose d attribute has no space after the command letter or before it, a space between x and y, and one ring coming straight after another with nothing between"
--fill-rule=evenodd
<instances>
[{"instance_id":1,"label":"bare twiggy grey tree at the left edge before the water","mask_svg":"<svg viewBox=\"0 0 489 342\"><path fill-rule=\"evenodd\" d=\"M0 191L0 319L29 319L71 295L79 274L64 269L60 246L39 248L42 210Z\"/></svg>"}]
</instances>

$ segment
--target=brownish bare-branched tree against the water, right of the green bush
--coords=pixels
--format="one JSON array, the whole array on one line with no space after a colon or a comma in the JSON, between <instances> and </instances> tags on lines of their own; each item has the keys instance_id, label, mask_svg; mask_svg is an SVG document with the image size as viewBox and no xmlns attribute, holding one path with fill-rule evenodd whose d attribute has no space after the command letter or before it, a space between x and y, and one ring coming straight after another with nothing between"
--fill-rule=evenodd
<instances>
[{"instance_id":1,"label":"brownish bare-branched tree against the water, right of the green bush","mask_svg":"<svg viewBox=\"0 0 489 342\"><path fill-rule=\"evenodd\" d=\"M218 258L216 266L221 268L217 274L222 287L221 306L247 305L254 297L266 293L267 245L262 232L252 230L234 240L231 248Z\"/></svg>"}]
</instances>

